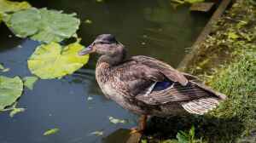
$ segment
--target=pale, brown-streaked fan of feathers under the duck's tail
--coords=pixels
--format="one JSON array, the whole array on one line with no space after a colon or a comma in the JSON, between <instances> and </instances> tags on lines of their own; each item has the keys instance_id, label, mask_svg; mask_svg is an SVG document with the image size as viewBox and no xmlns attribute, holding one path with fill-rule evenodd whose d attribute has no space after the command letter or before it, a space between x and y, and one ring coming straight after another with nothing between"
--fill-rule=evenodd
<instances>
[{"instance_id":1,"label":"pale, brown-streaked fan of feathers under the duck's tail","mask_svg":"<svg viewBox=\"0 0 256 143\"><path fill-rule=\"evenodd\" d=\"M206 97L189 102L182 102L181 106L189 113L203 115L218 106L218 103L218 98Z\"/></svg>"}]
</instances>

